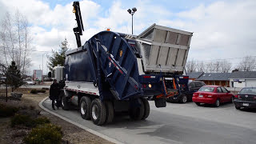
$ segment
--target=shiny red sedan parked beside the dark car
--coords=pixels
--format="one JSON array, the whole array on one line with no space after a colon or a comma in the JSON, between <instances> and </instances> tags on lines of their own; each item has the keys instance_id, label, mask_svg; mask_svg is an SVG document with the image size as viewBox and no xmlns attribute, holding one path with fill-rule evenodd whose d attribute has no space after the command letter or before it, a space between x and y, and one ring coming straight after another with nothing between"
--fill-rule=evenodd
<instances>
[{"instance_id":1,"label":"shiny red sedan parked beside the dark car","mask_svg":"<svg viewBox=\"0 0 256 144\"><path fill-rule=\"evenodd\" d=\"M213 104L218 107L220 103L233 102L234 94L223 86L202 86L193 94L192 101L198 106L200 103Z\"/></svg>"}]
</instances>

